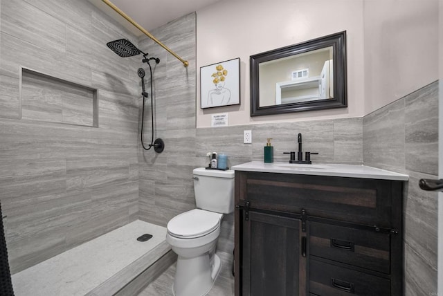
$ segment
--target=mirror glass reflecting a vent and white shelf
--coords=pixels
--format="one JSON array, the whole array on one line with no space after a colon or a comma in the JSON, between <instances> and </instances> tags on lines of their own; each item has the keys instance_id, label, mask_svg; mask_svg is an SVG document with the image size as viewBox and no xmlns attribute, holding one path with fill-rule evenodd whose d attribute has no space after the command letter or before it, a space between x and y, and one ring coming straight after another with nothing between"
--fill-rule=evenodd
<instances>
[{"instance_id":1,"label":"mirror glass reflecting a vent and white shelf","mask_svg":"<svg viewBox=\"0 0 443 296\"><path fill-rule=\"evenodd\" d=\"M333 48L259 65L260 107L334 98Z\"/></svg>"}]
</instances>

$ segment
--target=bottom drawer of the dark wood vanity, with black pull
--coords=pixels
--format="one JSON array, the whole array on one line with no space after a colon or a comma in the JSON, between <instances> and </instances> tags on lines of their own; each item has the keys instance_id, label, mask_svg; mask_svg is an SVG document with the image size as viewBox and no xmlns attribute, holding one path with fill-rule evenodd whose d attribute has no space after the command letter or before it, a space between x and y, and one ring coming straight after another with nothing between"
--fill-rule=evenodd
<instances>
[{"instance_id":1,"label":"bottom drawer of the dark wood vanity, with black pull","mask_svg":"<svg viewBox=\"0 0 443 296\"><path fill-rule=\"evenodd\" d=\"M318 296L390 295L390 281L311 259L309 292Z\"/></svg>"}]
</instances>

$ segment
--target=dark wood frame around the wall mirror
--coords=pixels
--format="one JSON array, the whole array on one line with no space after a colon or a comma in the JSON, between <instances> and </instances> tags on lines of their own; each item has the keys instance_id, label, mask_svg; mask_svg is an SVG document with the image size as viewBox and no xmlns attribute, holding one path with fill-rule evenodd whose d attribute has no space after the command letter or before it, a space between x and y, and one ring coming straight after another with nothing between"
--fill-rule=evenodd
<instances>
[{"instance_id":1,"label":"dark wood frame around the wall mirror","mask_svg":"<svg viewBox=\"0 0 443 296\"><path fill-rule=\"evenodd\" d=\"M333 48L333 98L260 107L260 63L307 53L311 50L318 50L329 46ZM346 31L251 55L249 62L251 66L251 116L347 107Z\"/></svg>"}]
</instances>

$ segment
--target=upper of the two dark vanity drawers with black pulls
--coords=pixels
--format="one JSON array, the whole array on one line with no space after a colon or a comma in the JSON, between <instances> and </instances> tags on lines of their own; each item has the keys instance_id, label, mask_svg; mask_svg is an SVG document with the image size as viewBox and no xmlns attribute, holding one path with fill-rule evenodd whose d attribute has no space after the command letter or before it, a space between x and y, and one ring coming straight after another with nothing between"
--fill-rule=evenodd
<instances>
[{"instance_id":1,"label":"upper of the two dark vanity drawers with black pulls","mask_svg":"<svg viewBox=\"0 0 443 296\"><path fill-rule=\"evenodd\" d=\"M390 234L310 222L309 255L389 274Z\"/></svg>"}]
</instances>

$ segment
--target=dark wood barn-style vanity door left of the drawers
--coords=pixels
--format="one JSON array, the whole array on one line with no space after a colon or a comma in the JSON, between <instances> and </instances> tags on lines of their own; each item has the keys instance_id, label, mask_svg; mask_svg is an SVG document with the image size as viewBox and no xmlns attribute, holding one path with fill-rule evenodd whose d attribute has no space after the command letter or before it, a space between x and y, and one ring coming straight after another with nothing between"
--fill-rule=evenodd
<instances>
[{"instance_id":1,"label":"dark wood barn-style vanity door left of the drawers","mask_svg":"<svg viewBox=\"0 0 443 296\"><path fill-rule=\"evenodd\" d=\"M242 225L242 295L300 295L300 219L252 211Z\"/></svg>"}]
</instances>

